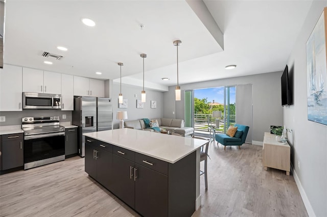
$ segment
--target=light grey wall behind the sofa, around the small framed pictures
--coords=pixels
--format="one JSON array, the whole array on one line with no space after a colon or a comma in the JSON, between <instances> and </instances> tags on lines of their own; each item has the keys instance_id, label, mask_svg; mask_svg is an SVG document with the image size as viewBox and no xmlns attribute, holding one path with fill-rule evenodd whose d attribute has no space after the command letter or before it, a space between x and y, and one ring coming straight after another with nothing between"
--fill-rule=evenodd
<instances>
[{"instance_id":1,"label":"light grey wall behind the sofa, around the small framed pictures","mask_svg":"<svg viewBox=\"0 0 327 217\"><path fill-rule=\"evenodd\" d=\"M135 87L130 85L122 85L122 94L124 99L128 99L127 108L118 107L118 94L120 92L120 84L113 83L112 94L112 112L113 112L113 128L119 128L119 120L116 119L117 111L127 111L128 120L137 120L141 118L161 118L164 114L163 103L164 94L160 91L147 90L146 91L146 102L144 108L136 108L136 99L141 99L142 87ZM134 95L137 95L135 97ZM151 108L151 100L157 101L157 108Z\"/></svg>"}]
</instances>

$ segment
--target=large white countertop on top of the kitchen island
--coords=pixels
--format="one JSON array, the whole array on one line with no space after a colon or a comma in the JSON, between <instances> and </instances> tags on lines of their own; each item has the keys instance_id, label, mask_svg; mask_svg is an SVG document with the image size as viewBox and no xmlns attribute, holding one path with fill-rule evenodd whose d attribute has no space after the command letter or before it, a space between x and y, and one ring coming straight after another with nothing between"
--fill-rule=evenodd
<instances>
[{"instance_id":1,"label":"large white countertop on top of the kitchen island","mask_svg":"<svg viewBox=\"0 0 327 217\"><path fill-rule=\"evenodd\" d=\"M191 137L178 137L177 135L130 128L88 132L83 135L172 164L208 142Z\"/></svg>"}]
</instances>

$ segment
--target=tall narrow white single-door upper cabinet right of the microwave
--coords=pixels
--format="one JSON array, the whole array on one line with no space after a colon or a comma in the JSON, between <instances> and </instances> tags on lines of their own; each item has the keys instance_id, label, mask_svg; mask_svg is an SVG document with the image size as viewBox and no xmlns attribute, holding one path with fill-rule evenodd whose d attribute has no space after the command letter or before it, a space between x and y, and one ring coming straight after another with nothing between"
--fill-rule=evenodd
<instances>
[{"instance_id":1,"label":"tall narrow white single-door upper cabinet right of the microwave","mask_svg":"<svg viewBox=\"0 0 327 217\"><path fill-rule=\"evenodd\" d=\"M61 110L74 110L74 79L73 75L61 74Z\"/></svg>"}]
</instances>

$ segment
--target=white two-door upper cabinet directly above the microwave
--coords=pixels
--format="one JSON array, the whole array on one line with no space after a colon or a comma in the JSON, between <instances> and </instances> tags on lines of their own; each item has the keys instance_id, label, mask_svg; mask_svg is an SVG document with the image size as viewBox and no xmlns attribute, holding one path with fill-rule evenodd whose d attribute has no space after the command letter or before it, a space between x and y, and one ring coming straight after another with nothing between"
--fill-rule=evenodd
<instances>
[{"instance_id":1,"label":"white two-door upper cabinet directly above the microwave","mask_svg":"<svg viewBox=\"0 0 327 217\"><path fill-rule=\"evenodd\" d=\"M38 69L22 69L22 91L61 94L61 74Z\"/></svg>"}]
</instances>

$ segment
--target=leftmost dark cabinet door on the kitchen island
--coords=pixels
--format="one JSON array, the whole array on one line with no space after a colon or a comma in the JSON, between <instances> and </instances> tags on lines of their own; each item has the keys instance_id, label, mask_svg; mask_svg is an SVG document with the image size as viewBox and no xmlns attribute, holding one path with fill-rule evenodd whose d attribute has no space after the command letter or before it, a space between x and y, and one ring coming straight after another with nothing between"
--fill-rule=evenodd
<instances>
[{"instance_id":1,"label":"leftmost dark cabinet door on the kitchen island","mask_svg":"<svg viewBox=\"0 0 327 217\"><path fill-rule=\"evenodd\" d=\"M96 160L96 146L85 143L85 172L94 179L97 179L97 160Z\"/></svg>"}]
</instances>

